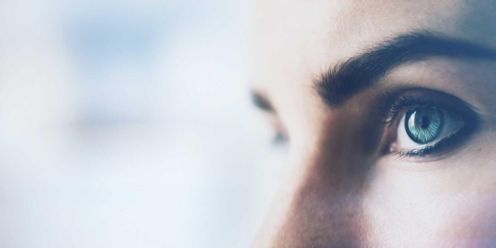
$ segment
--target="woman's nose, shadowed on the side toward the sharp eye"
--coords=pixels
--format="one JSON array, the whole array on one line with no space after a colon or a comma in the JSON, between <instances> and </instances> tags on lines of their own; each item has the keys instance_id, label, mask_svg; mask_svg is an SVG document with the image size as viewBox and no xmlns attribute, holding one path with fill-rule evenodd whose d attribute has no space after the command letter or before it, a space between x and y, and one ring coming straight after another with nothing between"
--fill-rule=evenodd
<instances>
[{"instance_id":1,"label":"woman's nose, shadowed on the side toward the sharp eye","mask_svg":"<svg viewBox=\"0 0 496 248\"><path fill-rule=\"evenodd\" d=\"M273 203L275 210L254 247L363 245L369 223L362 199L379 137L349 113L324 123L319 138L297 162L297 172L282 186L285 197Z\"/></svg>"}]
</instances>

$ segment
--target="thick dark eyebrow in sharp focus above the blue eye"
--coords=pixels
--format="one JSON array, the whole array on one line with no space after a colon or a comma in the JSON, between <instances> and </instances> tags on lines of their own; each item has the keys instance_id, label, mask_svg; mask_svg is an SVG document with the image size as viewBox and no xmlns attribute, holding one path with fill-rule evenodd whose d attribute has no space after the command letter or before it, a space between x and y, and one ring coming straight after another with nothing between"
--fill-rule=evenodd
<instances>
[{"instance_id":1,"label":"thick dark eyebrow in sharp focus above the blue eye","mask_svg":"<svg viewBox=\"0 0 496 248\"><path fill-rule=\"evenodd\" d=\"M430 56L496 59L496 51L442 34L410 32L331 67L315 80L314 87L329 107L339 106L372 86L392 68Z\"/></svg>"}]
</instances>

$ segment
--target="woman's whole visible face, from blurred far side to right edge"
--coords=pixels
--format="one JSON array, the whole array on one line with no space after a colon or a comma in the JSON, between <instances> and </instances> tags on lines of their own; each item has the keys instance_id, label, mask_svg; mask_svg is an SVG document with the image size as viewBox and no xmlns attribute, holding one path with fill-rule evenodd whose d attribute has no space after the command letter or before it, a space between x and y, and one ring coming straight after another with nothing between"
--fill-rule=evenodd
<instances>
[{"instance_id":1,"label":"woman's whole visible face, from blurred far side to right edge","mask_svg":"<svg viewBox=\"0 0 496 248\"><path fill-rule=\"evenodd\" d=\"M485 0L260 1L252 88L288 171L253 247L496 247L495 14ZM441 42L332 92L364 80L329 70L419 33ZM426 145L453 138L420 156L402 116L425 109L445 129Z\"/></svg>"}]
</instances>

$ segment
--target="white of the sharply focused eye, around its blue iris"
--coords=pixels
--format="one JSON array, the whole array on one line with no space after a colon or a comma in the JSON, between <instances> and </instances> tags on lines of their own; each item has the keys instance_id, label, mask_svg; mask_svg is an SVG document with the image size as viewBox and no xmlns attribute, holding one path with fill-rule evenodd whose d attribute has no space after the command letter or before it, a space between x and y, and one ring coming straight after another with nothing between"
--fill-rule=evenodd
<instances>
[{"instance_id":1,"label":"white of the sharply focused eye, around its blue iris","mask_svg":"<svg viewBox=\"0 0 496 248\"><path fill-rule=\"evenodd\" d=\"M463 125L463 121L461 121L459 118L456 118L452 115L449 115L445 111L443 111L443 116L444 116L444 122L443 125L441 126L441 130L439 131L438 138L434 140L433 142L439 140L443 136L446 136L447 134L453 133L456 129L460 128ZM401 120L398 124L397 131L396 131L396 146L399 150L404 150L404 149L421 149L425 146L428 146L431 143L428 144L419 144L415 141L413 141L410 136L408 136L406 129L405 129L405 118L406 118L406 113L403 114L401 117Z\"/></svg>"}]
</instances>

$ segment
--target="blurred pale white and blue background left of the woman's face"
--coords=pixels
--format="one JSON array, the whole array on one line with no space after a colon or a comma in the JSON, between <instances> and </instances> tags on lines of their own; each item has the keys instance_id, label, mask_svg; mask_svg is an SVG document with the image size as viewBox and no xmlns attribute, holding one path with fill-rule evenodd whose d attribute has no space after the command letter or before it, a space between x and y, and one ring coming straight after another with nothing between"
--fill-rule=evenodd
<instances>
[{"instance_id":1,"label":"blurred pale white and blue background left of the woman's face","mask_svg":"<svg viewBox=\"0 0 496 248\"><path fill-rule=\"evenodd\" d=\"M0 1L0 247L248 247L283 151L251 1Z\"/></svg>"}]
</instances>

